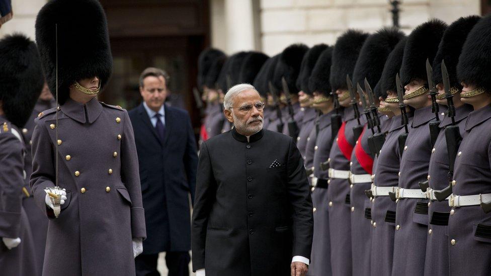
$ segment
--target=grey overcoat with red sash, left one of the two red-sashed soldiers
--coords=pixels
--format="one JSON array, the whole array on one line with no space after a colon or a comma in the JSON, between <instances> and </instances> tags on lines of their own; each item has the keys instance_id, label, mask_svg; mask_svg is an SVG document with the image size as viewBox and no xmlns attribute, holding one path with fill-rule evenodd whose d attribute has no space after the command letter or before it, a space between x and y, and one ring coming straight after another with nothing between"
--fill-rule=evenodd
<instances>
[{"instance_id":1,"label":"grey overcoat with red sash, left one of the two red-sashed soldiers","mask_svg":"<svg viewBox=\"0 0 491 276\"><path fill-rule=\"evenodd\" d=\"M351 153L356 143L353 127L357 125L353 108L345 108L343 124L329 153L331 169L350 170ZM328 200L333 275L352 275L350 184L347 178L330 177Z\"/></svg>"}]
</instances>

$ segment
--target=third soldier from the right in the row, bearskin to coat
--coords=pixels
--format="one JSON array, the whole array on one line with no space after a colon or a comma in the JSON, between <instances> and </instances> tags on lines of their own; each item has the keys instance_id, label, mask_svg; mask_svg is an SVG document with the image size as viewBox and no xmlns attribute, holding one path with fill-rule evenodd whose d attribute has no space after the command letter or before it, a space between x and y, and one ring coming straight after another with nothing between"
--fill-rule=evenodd
<instances>
[{"instance_id":1,"label":"third soldier from the right in the row, bearskin to coat","mask_svg":"<svg viewBox=\"0 0 491 276\"><path fill-rule=\"evenodd\" d=\"M430 122L435 120L428 96L426 60L433 61L447 25L430 20L408 36L400 68L404 104L415 110L412 130L400 160L392 275L421 275L428 232L428 202L419 182L427 180L431 155ZM425 43L422 43L425 41ZM440 108L443 112L443 108ZM443 114L444 115L444 114ZM443 116L439 114L439 116Z\"/></svg>"}]
</instances>

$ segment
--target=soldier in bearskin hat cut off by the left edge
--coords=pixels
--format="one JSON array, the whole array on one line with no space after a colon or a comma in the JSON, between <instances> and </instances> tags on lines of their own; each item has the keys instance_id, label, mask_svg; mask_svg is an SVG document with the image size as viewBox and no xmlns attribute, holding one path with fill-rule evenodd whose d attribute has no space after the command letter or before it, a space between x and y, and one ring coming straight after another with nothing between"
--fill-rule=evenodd
<instances>
[{"instance_id":1,"label":"soldier in bearskin hat cut off by the left edge","mask_svg":"<svg viewBox=\"0 0 491 276\"><path fill-rule=\"evenodd\" d=\"M22 206L26 147L20 127L41 94L44 76L34 42L24 35L0 40L0 274L40 275L31 227ZM42 231L42 229L34 229Z\"/></svg>"}]
</instances>

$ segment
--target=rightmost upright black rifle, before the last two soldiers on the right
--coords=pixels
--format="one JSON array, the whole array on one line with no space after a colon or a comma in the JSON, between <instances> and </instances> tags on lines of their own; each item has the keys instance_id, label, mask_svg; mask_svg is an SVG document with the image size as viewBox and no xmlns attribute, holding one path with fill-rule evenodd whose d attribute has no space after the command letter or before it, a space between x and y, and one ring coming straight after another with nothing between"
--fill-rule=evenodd
<instances>
[{"instance_id":1,"label":"rightmost upright black rifle, before the last two soldiers on the right","mask_svg":"<svg viewBox=\"0 0 491 276\"><path fill-rule=\"evenodd\" d=\"M457 156L457 151L460 145L460 141L462 141L462 137L460 136L459 126L455 124L455 106L453 104L453 96L450 92L450 80L448 77L447 66L445 66L445 61L442 61L442 76L443 76L443 87L445 89L445 99L447 99L448 105L448 117L452 119L452 124L450 126L445 127L445 140L447 142L447 154L448 154L448 187L435 191L435 198L438 201L444 201L452 194L452 178L453 178L453 169L455 156ZM487 205L485 203L481 203L481 207L485 213L491 211L487 211Z\"/></svg>"}]
</instances>

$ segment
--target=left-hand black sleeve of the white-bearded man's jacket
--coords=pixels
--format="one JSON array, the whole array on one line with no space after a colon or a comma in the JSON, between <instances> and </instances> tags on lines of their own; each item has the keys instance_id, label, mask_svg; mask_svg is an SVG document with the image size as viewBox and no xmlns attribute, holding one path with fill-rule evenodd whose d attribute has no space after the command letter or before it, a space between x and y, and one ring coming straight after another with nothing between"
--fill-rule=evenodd
<instances>
[{"instance_id":1,"label":"left-hand black sleeve of the white-bearded man's jacket","mask_svg":"<svg viewBox=\"0 0 491 276\"><path fill-rule=\"evenodd\" d=\"M203 143L198 161L196 200L194 202L193 221L191 225L193 271L205 267L206 229L210 210L216 195L216 186L208 147L206 143Z\"/></svg>"}]
</instances>

